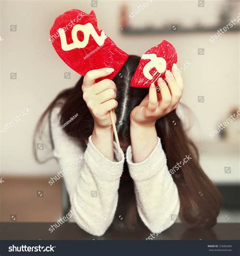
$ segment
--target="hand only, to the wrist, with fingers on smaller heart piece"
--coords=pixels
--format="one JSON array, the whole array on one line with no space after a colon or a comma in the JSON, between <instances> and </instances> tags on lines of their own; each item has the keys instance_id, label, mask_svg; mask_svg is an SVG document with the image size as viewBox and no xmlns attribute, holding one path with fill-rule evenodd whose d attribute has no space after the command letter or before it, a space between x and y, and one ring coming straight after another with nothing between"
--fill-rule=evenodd
<instances>
[{"instance_id":1,"label":"hand only, to the wrist, with fingers on smaller heart piece","mask_svg":"<svg viewBox=\"0 0 240 256\"><path fill-rule=\"evenodd\" d=\"M149 94L136 106L130 115L132 124L144 126L155 125L157 119L175 109L183 93L183 81L180 70L173 64L172 72L166 71L167 83L159 78L157 86L151 84Z\"/></svg>"}]
</instances>

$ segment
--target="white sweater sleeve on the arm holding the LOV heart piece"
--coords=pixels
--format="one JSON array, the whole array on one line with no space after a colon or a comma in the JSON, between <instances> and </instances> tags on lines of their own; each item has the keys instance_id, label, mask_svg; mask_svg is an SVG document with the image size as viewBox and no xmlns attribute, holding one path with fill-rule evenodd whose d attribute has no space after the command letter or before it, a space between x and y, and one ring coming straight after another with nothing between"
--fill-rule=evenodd
<instances>
[{"instance_id":1,"label":"white sweater sleeve on the arm holding the LOV heart piece","mask_svg":"<svg viewBox=\"0 0 240 256\"><path fill-rule=\"evenodd\" d=\"M84 152L81 145L61 129L59 111L60 107L55 107L51 114L54 156L62 169L71 214L82 229L101 236L110 226L116 210L124 153L117 153L114 142L114 161L108 160L95 147L91 136Z\"/></svg>"}]
</instances>

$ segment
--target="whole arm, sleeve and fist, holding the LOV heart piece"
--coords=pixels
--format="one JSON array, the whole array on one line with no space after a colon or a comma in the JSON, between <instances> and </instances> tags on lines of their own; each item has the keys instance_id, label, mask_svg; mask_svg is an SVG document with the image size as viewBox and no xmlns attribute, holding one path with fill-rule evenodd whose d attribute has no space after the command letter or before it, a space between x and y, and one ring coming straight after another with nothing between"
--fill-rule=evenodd
<instances>
[{"instance_id":1,"label":"whole arm, sleeve and fist, holding the LOV heart piece","mask_svg":"<svg viewBox=\"0 0 240 256\"><path fill-rule=\"evenodd\" d=\"M81 146L59 129L57 113L52 116L52 134L55 156L65 168L77 162L65 175L73 217L87 232L101 236L113 220L118 199L119 179L123 172L123 151L116 153L109 111L117 106L116 86L108 79L113 68L101 68L87 72L83 81L83 98L94 119L94 130L84 152ZM73 115L76 113L73 113ZM113 114L116 120L115 113ZM74 121L73 121L74 122ZM114 161L115 160L115 161Z\"/></svg>"}]
</instances>

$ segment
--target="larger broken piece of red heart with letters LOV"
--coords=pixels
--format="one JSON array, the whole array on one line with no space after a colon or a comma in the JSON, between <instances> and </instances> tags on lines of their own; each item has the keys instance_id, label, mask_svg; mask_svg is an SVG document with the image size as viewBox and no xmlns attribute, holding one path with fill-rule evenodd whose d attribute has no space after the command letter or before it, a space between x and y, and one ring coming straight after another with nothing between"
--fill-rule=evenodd
<instances>
[{"instance_id":1,"label":"larger broken piece of red heart with letters LOV","mask_svg":"<svg viewBox=\"0 0 240 256\"><path fill-rule=\"evenodd\" d=\"M60 58L82 76L92 69L112 67L112 74L105 77L112 79L129 56L98 29L94 11L90 14L80 10L65 12L56 18L50 36Z\"/></svg>"}]
</instances>

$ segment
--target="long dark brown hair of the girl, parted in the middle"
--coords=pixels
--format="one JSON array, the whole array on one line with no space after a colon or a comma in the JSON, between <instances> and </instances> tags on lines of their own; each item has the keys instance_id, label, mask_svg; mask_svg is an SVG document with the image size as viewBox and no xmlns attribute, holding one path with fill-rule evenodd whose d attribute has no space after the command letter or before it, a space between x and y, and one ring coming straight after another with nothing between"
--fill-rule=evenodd
<instances>
[{"instance_id":1,"label":"long dark brown hair of the girl, parted in the middle","mask_svg":"<svg viewBox=\"0 0 240 256\"><path fill-rule=\"evenodd\" d=\"M140 57L130 55L123 68L113 79L117 87L118 106L115 109L117 132L119 139L127 143L130 143L130 113L148 93L146 88L130 87L139 61ZM94 120L83 100L82 84L83 77L75 87L57 95L39 119L35 135L39 133L39 127L44 119L51 115L54 106L63 100L60 123L64 124L74 113L78 113L78 118L67 125L64 131L86 147L86 140L93 132ZM221 195L199 165L197 149L187 137L176 111L158 119L155 127L158 137L161 138L169 169L184 159L186 155L190 154L192 158L172 175L180 197L179 216L182 222L190 227L214 226L221 206ZM54 147L54 143L52 146ZM129 175L126 163L119 187L117 211L124 216L125 227L133 227L139 220L133 180Z\"/></svg>"}]
</instances>

